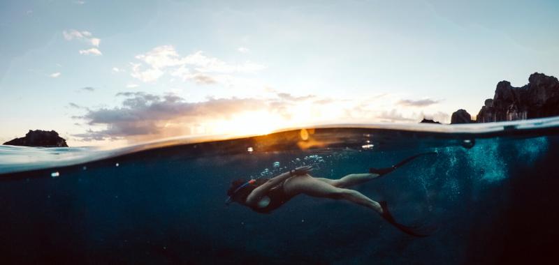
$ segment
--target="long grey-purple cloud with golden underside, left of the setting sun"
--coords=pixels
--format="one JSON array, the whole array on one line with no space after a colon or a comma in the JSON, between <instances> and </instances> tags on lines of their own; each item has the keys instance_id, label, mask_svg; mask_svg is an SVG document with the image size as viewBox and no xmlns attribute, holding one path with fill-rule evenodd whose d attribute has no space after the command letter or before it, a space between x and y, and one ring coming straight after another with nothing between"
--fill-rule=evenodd
<instances>
[{"instance_id":1,"label":"long grey-purple cloud with golden underside, left of the setting sun","mask_svg":"<svg viewBox=\"0 0 559 265\"><path fill-rule=\"evenodd\" d=\"M196 121L211 118L226 118L249 107L262 106L261 100L244 98L210 98L200 103L188 103L175 95L156 96L143 92L122 92L122 107L89 109L83 119L91 126L105 125L105 130L89 131L82 138L128 137L158 135L174 123L192 126ZM184 130L183 130L184 131Z\"/></svg>"}]
</instances>

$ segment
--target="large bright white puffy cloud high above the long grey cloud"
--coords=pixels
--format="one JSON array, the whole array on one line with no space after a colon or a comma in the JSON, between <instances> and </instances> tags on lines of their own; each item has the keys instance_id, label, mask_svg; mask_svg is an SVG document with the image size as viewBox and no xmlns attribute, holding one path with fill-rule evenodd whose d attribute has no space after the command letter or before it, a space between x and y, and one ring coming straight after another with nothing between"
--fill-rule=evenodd
<instances>
[{"instance_id":1,"label":"large bright white puffy cloud high above the long grey cloud","mask_svg":"<svg viewBox=\"0 0 559 265\"><path fill-rule=\"evenodd\" d=\"M212 84L234 73L256 73L265 67L258 63L231 64L202 51L180 56L173 45L154 47L145 54L135 56L140 63L131 63L131 76L142 82L154 82L168 73L182 80L192 80L198 84Z\"/></svg>"}]
</instances>

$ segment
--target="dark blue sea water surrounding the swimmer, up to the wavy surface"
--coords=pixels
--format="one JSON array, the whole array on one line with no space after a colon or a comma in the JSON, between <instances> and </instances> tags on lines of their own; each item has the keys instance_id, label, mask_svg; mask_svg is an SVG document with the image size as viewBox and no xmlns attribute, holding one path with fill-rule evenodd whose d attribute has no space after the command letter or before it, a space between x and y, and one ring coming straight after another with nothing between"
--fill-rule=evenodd
<instances>
[{"instance_id":1,"label":"dark blue sea water surrounding the swimmer, up to the wavy surface","mask_svg":"<svg viewBox=\"0 0 559 265\"><path fill-rule=\"evenodd\" d=\"M300 195L271 214L231 204L231 181L302 165L338 179L421 156L356 190L377 213ZM468 126L323 126L124 149L0 147L3 264L552 263L559 119Z\"/></svg>"}]
</instances>

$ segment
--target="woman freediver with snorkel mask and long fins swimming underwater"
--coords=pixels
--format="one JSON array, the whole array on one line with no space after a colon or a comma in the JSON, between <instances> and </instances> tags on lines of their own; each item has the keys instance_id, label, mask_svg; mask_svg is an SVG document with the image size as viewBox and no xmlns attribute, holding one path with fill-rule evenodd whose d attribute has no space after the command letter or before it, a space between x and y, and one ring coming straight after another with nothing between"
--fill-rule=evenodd
<instances>
[{"instance_id":1,"label":"woman freediver with snorkel mask and long fins swimming underwater","mask_svg":"<svg viewBox=\"0 0 559 265\"><path fill-rule=\"evenodd\" d=\"M341 179L325 179L311 176L309 172L312 170L312 166L297 167L271 179L251 179L249 181L238 179L231 183L231 188L227 191L229 197L226 200L226 204L237 202L257 213L270 213L288 202L289 199L300 194L319 198L344 199L376 211L384 220L406 234L420 237L428 236L428 234L418 232L418 227L408 227L396 222L386 202L375 202L361 194L361 192L349 189L351 186L389 174L410 160L426 154L432 154L432 152L420 153L406 158L392 167L370 168L369 173L349 174Z\"/></svg>"}]
</instances>

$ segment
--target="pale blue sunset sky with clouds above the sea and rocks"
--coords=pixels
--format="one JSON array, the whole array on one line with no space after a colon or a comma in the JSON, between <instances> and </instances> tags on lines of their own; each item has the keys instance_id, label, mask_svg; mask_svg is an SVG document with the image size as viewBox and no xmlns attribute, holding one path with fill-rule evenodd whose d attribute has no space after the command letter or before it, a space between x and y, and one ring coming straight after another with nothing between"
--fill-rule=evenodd
<instances>
[{"instance_id":1,"label":"pale blue sunset sky with clouds above the sea and rocks","mask_svg":"<svg viewBox=\"0 0 559 265\"><path fill-rule=\"evenodd\" d=\"M449 123L559 75L559 1L0 1L0 142Z\"/></svg>"}]
</instances>

